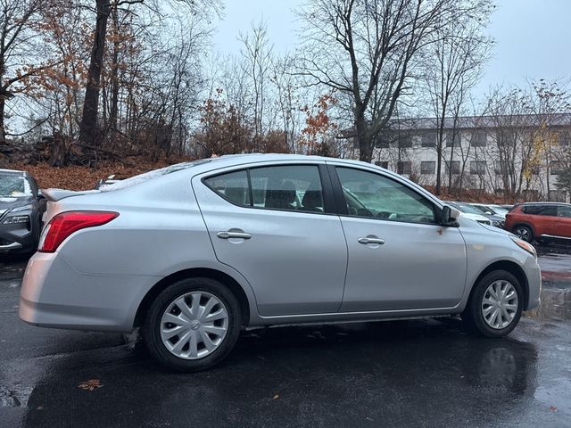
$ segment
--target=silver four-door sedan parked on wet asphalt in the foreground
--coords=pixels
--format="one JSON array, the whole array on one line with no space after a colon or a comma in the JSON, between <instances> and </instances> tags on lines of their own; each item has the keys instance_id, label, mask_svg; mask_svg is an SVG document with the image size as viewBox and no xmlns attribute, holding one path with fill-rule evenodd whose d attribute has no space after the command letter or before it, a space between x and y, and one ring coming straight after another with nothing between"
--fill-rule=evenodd
<instances>
[{"instance_id":1,"label":"silver four-door sedan parked on wet asphalt in the foreground","mask_svg":"<svg viewBox=\"0 0 571 428\"><path fill-rule=\"evenodd\" d=\"M539 302L532 245L368 163L223 156L44 194L21 319L140 327L174 370L219 363L244 328L461 315L497 337Z\"/></svg>"}]
</instances>

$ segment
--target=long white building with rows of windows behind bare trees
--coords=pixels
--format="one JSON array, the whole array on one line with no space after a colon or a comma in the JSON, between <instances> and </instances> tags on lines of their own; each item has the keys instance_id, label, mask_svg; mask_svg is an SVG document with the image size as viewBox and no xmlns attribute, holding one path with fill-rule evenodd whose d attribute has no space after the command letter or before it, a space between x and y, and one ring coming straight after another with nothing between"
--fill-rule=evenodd
<instances>
[{"instance_id":1,"label":"long white building with rows of windows behind bare trees","mask_svg":"<svg viewBox=\"0 0 571 428\"><path fill-rule=\"evenodd\" d=\"M436 123L394 120L377 137L373 162L421 185L435 185ZM570 114L446 119L442 134L443 187L505 193L508 200L569 201L556 184L559 172L569 168Z\"/></svg>"}]
</instances>

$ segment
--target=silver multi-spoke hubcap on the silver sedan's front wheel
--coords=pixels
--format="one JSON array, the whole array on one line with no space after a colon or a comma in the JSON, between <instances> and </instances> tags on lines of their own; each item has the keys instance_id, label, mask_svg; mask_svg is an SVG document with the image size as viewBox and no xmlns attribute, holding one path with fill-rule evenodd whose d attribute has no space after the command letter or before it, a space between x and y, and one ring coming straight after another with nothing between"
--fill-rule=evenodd
<instances>
[{"instance_id":1,"label":"silver multi-spoke hubcap on the silver sedan's front wheel","mask_svg":"<svg viewBox=\"0 0 571 428\"><path fill-rule=\"evenodd\" d=\"M516 288L505 280L494 281L484 292L482 315L487 325L501 330L511 324L517 314Z\"/></svg>"}]
</instances>

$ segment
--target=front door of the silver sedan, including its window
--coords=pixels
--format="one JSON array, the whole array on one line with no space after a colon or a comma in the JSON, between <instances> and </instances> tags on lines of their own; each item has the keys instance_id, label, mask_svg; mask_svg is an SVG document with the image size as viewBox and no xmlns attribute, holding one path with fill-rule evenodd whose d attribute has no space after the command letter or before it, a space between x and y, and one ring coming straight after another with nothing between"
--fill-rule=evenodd
<instances>
[{"instance_id":1,"label":"front door of the silver sedan, including its window","mask_svg":"<svg viewBox=\"0 0 571 428\"><path fill-rule=\"evenodd\" d=\"M434 203L396 177L335 166L349 261L341 311L450 308L464 293L467 251Z\"/></svg>"}]
</instances>

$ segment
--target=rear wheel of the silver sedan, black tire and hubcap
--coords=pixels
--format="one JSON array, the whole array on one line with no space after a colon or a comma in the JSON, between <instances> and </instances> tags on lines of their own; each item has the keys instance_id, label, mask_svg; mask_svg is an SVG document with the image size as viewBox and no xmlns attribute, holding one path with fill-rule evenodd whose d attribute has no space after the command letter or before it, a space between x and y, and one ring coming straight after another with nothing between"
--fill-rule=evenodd
<instances>
[{"instance_id":1,"label":"rear wheel of the silver sedan, black tire and hubcap","mask_svg":"<svg viewBox=\"0 0 571 428\"><path fill-rule=\"evenodd\" d=\"M240 305L224 284L211 278L188 278L170 285L153 301L145 317L143 341L162 366L196 372L228 356L240 335L240 324Z\"/></svg>"}]
</instances>

